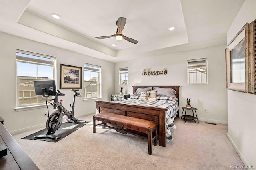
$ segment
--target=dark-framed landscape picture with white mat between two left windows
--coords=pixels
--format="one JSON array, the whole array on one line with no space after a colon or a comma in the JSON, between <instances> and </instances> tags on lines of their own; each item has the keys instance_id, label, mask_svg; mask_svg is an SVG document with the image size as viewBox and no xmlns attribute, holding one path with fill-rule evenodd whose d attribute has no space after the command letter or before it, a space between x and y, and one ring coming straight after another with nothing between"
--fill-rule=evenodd
<instances>
[{"instance_id":1,"label":"dark-framed landscape picture with white mat between two left windows","mask_svg":"<svg viewBox=\"0 0 256 170\"><path fill-rule=\"evenodd\" d=\"M82 67L60 64L60 89L82 89Z\"/></svg>"}]
</instances>

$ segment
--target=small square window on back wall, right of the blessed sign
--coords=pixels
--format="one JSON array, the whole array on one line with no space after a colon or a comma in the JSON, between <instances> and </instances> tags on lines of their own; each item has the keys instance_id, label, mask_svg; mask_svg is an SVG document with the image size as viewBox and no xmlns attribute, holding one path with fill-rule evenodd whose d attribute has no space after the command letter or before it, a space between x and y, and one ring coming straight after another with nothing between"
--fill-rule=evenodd
<instances>
[{"instance_id":1,"label":"small square window on back wall, right of the blessed sign","mask_svg":"<svg viewBox=\"0 0 256 170\"><path fill-rule=\"evenodd\" d=\"M188 84L207 84L207 58L188 60Z\"/></svg>"}]
</instances>

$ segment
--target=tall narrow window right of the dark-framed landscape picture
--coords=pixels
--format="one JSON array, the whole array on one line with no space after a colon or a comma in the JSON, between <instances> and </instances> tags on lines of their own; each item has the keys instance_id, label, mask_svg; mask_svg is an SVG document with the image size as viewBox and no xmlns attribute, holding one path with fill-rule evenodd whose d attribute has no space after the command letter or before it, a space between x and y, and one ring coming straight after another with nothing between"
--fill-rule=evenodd
<instances>
[{"instance_id":1,"label":"tall narrow window right of the dark-framed landscape picture","mask_svg":"<svg viewBox=\"0 0 256 170\"><path fill-rule=\"evenodd\" d=\"M100 77L100 66L84 64L84 98L100 97Z\"/></svg>"}]
</instances>

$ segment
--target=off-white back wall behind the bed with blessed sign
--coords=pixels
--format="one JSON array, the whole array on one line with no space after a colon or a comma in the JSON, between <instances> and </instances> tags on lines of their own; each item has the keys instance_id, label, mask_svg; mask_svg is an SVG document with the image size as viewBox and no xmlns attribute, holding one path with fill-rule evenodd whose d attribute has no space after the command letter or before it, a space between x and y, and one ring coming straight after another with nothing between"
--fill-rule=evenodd
<instances>
[{"instance_id":1,"label":"off-white back wall behind the bed with blessed sign","mask_svg":"<svg viewBox=\"0 0 256 170\"><path fill-rule=\"evenodd\" d=\"M227 124L227 91L225 46L210 47L182 53L137 59L115 63L115 93L124 87L124 93L132 95L132 85L180 85L180 106L186 106L191 98L192 107L198 108L198 119ZM208 84L187 83L187 60L208 58ZM129 84L119 85L119 68L128 67ZM167 69L166 75L142 76L142 71ZM204 108L208 112L204 112ZM182 109L180 110L180 116Z\"/></svg>"}]
</instances>

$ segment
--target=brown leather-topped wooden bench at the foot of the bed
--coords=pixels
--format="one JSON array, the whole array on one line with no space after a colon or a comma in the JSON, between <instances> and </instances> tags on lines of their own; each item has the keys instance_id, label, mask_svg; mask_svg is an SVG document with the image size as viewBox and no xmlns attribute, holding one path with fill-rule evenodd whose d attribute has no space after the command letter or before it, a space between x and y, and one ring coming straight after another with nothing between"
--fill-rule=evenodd
<instances>
[{"instance_id":1,"label":"brown leather-topped wooden bench at the foot of the bed","mask_svg":"<svg viewBox=\"0 0 256 170\"><path fill-rule=\"evenodd\" d=\"M101 123L96 125L96 121ZM96 126L108 127L123 134L129 133L140 138L147 138L149 155L152 154L152 141L157 146L157 125L152 121L102 112L93 116L93 133L96 132Z\"/></svg>"}]
</instances>

